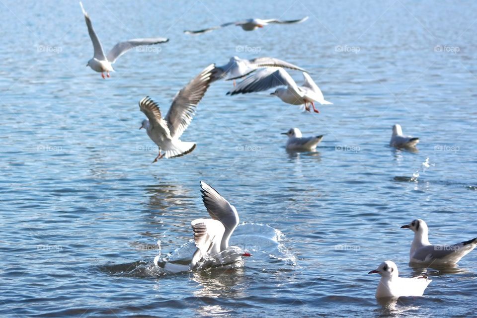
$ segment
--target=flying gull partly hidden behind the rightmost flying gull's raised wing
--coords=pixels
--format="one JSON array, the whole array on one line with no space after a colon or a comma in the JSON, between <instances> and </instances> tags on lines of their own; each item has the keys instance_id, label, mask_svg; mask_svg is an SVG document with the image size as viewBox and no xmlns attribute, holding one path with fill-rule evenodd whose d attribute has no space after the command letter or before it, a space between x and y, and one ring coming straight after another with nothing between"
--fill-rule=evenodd
<instances>
[{"instance_id":1,"label":"flying gull partly hidden behind the rightmost flying gull's raised wing","mask_svg":"<svg viewBox=\"0 0 477 318\"><path fill-rule=\"evenodd\" d=\"M231 57L229 63L217 66L214 70L214 81L217 79L225 79L225 80L235 80L240 79L244 76L249 75L252 72L255 72L259 68L265 67L282 67L288 68L292 70L298 70L305 73L308 73L306 70L293 65L291 63L275 59L275 58L256 58L252 60L240 59L237 56Z\"/></svg>"}]
</instances>

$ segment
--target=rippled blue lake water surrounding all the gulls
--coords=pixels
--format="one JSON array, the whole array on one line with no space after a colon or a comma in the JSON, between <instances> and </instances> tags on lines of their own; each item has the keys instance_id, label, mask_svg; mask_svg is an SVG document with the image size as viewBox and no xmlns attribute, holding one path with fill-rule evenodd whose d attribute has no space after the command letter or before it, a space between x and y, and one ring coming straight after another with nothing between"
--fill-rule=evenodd
<instances>
[{"instance_id":1,"label":"rippled blue lake water surrounding all the gulls","mask_svg":"<svg viewBox=\"0 0 477 318\"><path fill-rule=\"evenodd\" d=\"M475 1L84 1L106 51L132 51L103 80L77 1L0 3L0 314L2 316L477 316L477 252L428 269L422 298L374 298L386 259L405 277L412 234L476 237ZM295 19L254 32L248 17ZM152 49L155 48L155 49ZM157 148L138 101L163 113L190 79L231 56L306 68L334 105L303 113L268 92L207 91L182 136L196 150L151 164ZM290 72L301 83L299 72ZM388 147L393 124L417 153ZM288 154L291 127L325 134L317 152ZM428 160L427 160L428 159ZM423 165L423 162L428 162ZM428 165L428 167L427 167ZM151 264L192 238L207 216L199 180L234 204L237 270L157 275ZM255 238L239 235L239 231Z\"/></svg>"}]
</instances>

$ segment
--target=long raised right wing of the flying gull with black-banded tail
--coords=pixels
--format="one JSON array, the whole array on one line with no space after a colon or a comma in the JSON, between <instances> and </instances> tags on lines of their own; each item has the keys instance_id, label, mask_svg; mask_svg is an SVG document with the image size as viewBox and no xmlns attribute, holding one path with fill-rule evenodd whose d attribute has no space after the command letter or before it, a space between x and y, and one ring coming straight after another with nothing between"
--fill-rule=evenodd
<instances>
[{"instance_id":1,"label":"long raised right wing of the flying gull with black-banded tail","mask_svg":"<svg viewBox=\"0 0 477 318\"><path fill-rule=\"evenodd\" d=\"M213 64L206 67L175 95L165 116L172 138L179 138L192 121L197 104L212 82Z\"/></svg>"}]
</instances>

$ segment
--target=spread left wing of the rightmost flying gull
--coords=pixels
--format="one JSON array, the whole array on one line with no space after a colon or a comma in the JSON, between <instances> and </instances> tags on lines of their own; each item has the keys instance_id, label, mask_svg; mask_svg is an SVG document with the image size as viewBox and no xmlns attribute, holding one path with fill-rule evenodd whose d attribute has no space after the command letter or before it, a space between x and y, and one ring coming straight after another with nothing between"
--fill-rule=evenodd
<instances>
[{"instance_id":1,"label":"spread left wing of the rightmost flying gull","mask_svg":"<svg viewBox=\"0 0 477 318\"><path fill-rule=\"evenodd\" d=\"M282 85L290 86L295 91L299 91L297 84L287 71L282 68L266 68L242 80L233 90L229 91L227 95L263 91Z\"/></svg>"}]
</instances>

